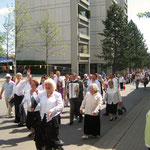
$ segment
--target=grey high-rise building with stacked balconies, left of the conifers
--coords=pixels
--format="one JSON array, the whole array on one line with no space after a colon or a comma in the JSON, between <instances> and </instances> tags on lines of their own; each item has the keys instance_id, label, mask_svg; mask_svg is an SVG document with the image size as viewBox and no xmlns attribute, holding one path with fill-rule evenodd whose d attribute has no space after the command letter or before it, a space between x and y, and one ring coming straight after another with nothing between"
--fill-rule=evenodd
<instances>
[{"instance_id":1,"label":"grey high-rise building with stacked balconies, left of the conifers","mask_svg":"<svg viewBox=\"0 0 150 150\"><path fill-rule=\"evenodd\" d=\"M127 0L115 1L127 12ZM26 0L33 22L40 21L48 9L59 26L62 38L59 45L65 45L65 51L63 55L49 56L48 63L51 64L52 71L54 66L59 66L59 70L64 72L78 74L101 70L104 60L97 57L102 51L102 37L99 33L103 32L102 20L105 20L111 2L112 0ZM37 34L35 29L36 24L33 24L31 35ZM31 41L30 45L17 54L17 60L45 61L40 38Z\"/></svg>"}]
</instances>

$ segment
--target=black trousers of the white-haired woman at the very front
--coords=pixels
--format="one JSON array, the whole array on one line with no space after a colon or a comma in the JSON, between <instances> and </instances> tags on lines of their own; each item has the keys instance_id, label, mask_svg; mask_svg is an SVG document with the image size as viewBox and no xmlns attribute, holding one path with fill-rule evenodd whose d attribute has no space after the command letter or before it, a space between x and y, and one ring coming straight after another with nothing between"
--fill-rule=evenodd
<instances>
[{"instance_id":1,"label":"black trousers of the white-haired woman at the very front","mask_svg":"<svg viewBox=\"0 0 150 150\"><path fill-rule=\"evenodd\" d=\"M38 128L35 129L35 144L36 148L41 150L51 150L52 148L59 149L59 116L54 117L51 121L47 122L46 115L40 122Z\"/></svg>"}]
</instances>

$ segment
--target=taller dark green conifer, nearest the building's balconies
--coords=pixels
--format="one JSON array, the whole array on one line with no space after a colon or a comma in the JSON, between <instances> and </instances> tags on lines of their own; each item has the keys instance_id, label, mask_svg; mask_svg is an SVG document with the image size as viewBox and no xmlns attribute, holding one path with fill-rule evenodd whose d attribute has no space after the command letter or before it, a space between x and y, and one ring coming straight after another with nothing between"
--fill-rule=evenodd
<instances>
[{"instance_id":1,"label":"taller dark green conifer, nearest the building's balconies","mask_svg":"<svg viewBox=\"0 0 150 150\"><path fill-rule=\"evenodd\" d=\"M105 29L101 34L104 39L101 41L102 53L100 57L104 58L108 66L112 66L112 72L125 69L127 67L127 16L123 9L113 2L107 11L107 17L103 24Z\"/></svg>"}]
</instances>

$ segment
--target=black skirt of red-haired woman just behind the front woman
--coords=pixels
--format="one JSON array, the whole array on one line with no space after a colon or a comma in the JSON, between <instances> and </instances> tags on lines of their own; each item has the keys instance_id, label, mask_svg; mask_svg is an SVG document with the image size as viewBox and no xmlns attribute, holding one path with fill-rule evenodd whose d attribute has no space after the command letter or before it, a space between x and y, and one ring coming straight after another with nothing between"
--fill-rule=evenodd
<instances>
[{"instance_id":1,"label":"black skirt of red-haired woman just behind the front woman","mask_svg":"<svg viewBox=\"0 0 150 150\"><path fill-rule=\"evenodd\" d=\"M37 124L40 121L40 112L35 111L35 112L29 112L27 111L27 121L26 125L27 128L30 130L31 128L35 129L37 127Z\"/></svg>"}]
</instances>

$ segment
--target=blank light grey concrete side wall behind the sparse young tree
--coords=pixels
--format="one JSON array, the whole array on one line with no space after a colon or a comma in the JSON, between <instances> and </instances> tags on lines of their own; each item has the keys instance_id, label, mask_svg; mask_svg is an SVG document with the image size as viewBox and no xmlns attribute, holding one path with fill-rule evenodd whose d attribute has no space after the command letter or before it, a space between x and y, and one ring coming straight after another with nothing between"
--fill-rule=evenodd
<instances>
[{"instance_id":1,"label":"blank light grey concrete side wall behind the sparse young tree","mask_svg":"<svg viewBox=\"0 0 150 150\"><path fill-rule=\"evenodd\" d=\"M34 21L40 21L45 15L46 9L50 11L52 19L55 20L60 29L61 45L65 45L63 55L55 54L49 57L50 64L70 64L71 63L71 20L70 20L70 0L27 0L26 6L30 8L30 15ZM37 17L38 16L38 17ZM30 35L36 35L36 24L31 26ZM45 60L45 52L42 51L42 42L39 38L31 41L22 53L17 54L18 60Z\"/></svg>"}]
</instances>

